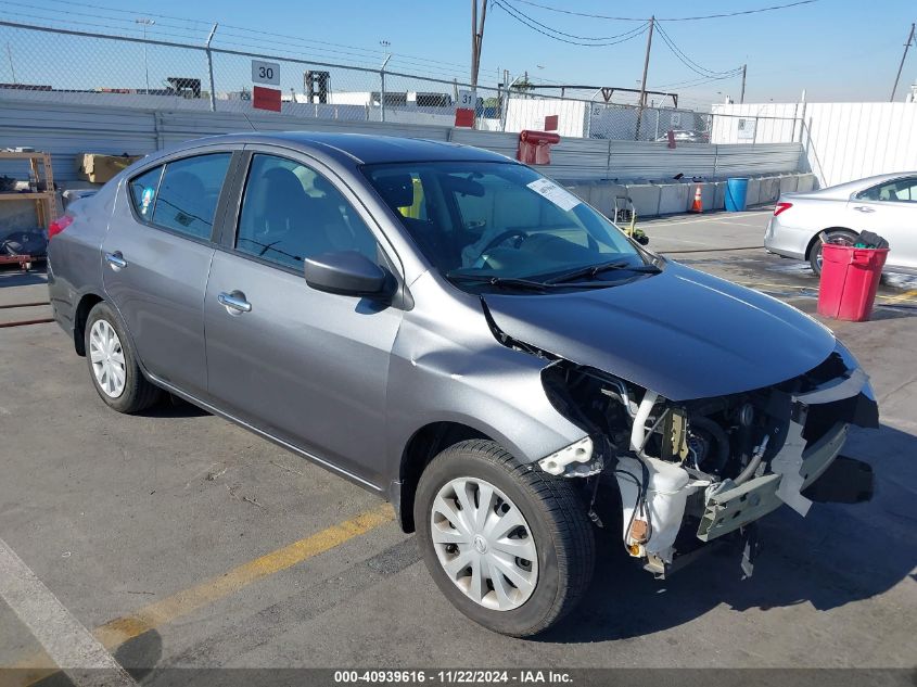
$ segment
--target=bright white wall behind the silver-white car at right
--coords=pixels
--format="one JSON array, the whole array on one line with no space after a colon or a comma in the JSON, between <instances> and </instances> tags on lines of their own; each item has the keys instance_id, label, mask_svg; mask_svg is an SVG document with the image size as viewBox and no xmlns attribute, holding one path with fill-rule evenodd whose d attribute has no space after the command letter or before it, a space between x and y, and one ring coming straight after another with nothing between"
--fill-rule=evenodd
<instances>
[{"instance_id":1,"label":"bright white wall behind the silver-white car at right","mask_svg":"<svg viewBox=\"0 0 917 687\"><path fill-rule=\"evenodd\" d=\"M731 115L713 117L713 143L751 143L741 138L740 119L756 143L786 141L791 127L823 187L917 169L917 103L714 105L713 114Z\"/></svg>"}]
</instances>

